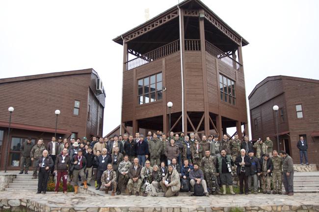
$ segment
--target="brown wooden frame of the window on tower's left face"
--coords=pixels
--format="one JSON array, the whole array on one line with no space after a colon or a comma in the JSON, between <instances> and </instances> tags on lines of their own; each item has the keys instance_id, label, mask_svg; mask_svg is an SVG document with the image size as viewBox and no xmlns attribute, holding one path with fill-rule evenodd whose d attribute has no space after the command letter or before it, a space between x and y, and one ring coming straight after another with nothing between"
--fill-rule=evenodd
<instances>
[{"instance_id":1,"label":"brown wooden frame of the window on tower's left face","mask_svg":"<svg viewBox=\"0 0 319 212\"><path fill-rule=\"evenodd\" d=\"M161 74L161 79L158 79L158 75ZM151 81L151 78L155 77L155 81ZM142 84L139 83L139 81L142 82ZM148 83L145 83L145 82ZM152 83L153 82L153 83ZM137 83L137 106L144 105L144 104L150 104L153 102L161 101L162 100L162 94L163 94L163 73L162 72L157 72L155 74L151 74L142 78L137 78L136 79ZM152 83L152 84L151 84ZM158 85L160 85L158 87ZM155 88L154 88L155 86ZM147 87L148 91L145 90ZM152 91L152 87L154 91ZM141 94L139 90L141 89ZM161 93L161 98L159 99L159 93ZM155 95L155 98L151 98L152 95ZM146 98L148 98L148 101L146 102Z\"/></svg>"}]
</instances>

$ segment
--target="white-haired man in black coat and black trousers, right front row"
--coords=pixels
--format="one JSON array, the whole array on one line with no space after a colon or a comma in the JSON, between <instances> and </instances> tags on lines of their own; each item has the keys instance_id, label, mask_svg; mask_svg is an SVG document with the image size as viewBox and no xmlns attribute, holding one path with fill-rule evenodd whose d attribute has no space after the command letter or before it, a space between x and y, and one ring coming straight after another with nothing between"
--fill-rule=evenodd
<instances>
[{"instance_id":1,"label":"white-haired man in black coat and black trousers, right front row","mask_svg":"<svg viewBox=\"0 0 319 212\"><path fill-rule=\"evenodd\" d=\"M250 159L246 156L246 150L241 149L236 158L237 176L239 176L239 194L243 194L243 182L245 182L245 194L248 194L248 176L250 175Z\"/></svg>"}]
</instances>

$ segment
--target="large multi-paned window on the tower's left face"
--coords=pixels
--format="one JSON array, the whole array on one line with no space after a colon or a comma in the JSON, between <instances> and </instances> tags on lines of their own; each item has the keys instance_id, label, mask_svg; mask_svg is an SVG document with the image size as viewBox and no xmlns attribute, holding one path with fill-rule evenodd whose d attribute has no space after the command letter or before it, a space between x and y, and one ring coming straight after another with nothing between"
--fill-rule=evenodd
<instances>
[{"instance_id":1,"label":"large multi-paned window on the tower's left face","mask_svg":"<svg viewBox=\"0 0 319 212\"><path fill-rule=\"evenodd\" d=\"M146 104L162 99L162 73L137 80L137 104Z\"/></svg>"}]
</instances>

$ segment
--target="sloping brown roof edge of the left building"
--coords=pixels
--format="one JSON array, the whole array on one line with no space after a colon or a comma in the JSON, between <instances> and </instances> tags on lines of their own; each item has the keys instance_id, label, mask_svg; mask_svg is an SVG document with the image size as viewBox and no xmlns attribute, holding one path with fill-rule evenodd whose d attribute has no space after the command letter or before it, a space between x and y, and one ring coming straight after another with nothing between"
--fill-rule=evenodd
<instances>
[{"instance_id":1,"label":"sloping brown roof edge of the left building","mask_svg":"<svg viewBox=\"0 0 319 212\"><path fill-rule=\"evenodd\" d=\"M61 72L43 73L43 74L28 75L28 76L2 78L2 79L0 79L0 84L26 81L26 80L34 80L34 79L42 79L42 78L49 78L49 77L85 74L85 73L94 73L95 75L97 75L99 77L98 73L96 71L94 71L94 69L91 68L91 69L82 69L82 70L76 70L76 71L61 71Z\"/></svg>"}]
</instances>

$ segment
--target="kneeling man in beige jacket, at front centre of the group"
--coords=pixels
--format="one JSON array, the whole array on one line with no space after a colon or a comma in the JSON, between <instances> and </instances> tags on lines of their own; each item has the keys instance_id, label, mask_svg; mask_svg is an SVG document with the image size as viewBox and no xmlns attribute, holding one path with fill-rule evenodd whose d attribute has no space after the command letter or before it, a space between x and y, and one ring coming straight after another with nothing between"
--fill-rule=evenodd
<instances>
[{"instance_id":1,"label":"kneeling man in beige jacket, at front centre of the group","mask_svg":"<svg viewBox=\"0 0 319 212\"><path fill-rule=\"evenodd\" d=\"M178 196L178 192L181 188L180 174L176 169L173 169L172 165L168 165L167 169L168 171L165 177L160 181L160 186L166 197L171 197L173 195Z\"/></svg>"}]
</instances>

